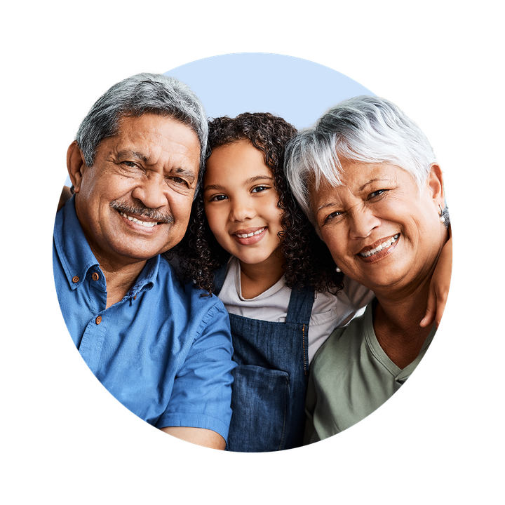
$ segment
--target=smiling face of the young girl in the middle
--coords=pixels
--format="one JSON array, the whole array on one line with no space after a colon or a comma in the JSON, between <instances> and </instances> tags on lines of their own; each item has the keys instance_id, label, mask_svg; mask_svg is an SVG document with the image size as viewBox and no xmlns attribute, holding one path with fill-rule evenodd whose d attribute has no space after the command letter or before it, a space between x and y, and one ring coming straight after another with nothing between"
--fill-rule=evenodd
<instances>
[{"instance_id":1,"label":"smiling face of the young girl in the middle","mask_svg":"<svg viewBox=\"0 0 505 505\"><path fill-rule=\"evenodd\" d=\"M203 180L203 202L222 248L246 264L275 259L282 211L271 170L250 142L213 149Z\"/></svg>"}]
</instances>

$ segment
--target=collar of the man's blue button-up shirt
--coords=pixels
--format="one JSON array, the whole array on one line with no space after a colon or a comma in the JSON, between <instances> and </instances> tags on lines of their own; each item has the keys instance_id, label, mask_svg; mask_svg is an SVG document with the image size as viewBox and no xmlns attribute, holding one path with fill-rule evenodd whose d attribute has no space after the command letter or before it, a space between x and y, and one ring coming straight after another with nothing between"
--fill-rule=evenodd
<instances>
[{"instance_id":1,"label":"collar of the man's blue button-up shirt","mask_svg":"<svg viewBox=\"0 0 505 505\"><path fill-rule=\"evenodd\" d=\"M100 269L95 255L86 240L84 231L75 210L75 196L56 214L53 230L55 248L62 262L65 276L72 290L79 288L90 268ZM140 276L130 288L128 297L135 297L140 290L151 289L158 276L161 257L147 260Z\"/></svg>"}]
</instances>

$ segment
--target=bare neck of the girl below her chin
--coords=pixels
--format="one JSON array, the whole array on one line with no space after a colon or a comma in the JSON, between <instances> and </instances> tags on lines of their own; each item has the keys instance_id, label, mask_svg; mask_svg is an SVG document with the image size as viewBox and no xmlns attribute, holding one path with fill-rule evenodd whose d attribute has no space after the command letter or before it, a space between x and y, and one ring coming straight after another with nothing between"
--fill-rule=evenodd
<instances>
[{"instance_id":1,"label":"bare neck of the girl below her chin","mask_svg":"<svg viewBox=\"0 0 505 505\"><path fill-rule=\"evenodd\" d=\"M266 261L247 264L240 261L242 296L255 298L271 288L284 275L284 260L278 250Z\"/></svg>"}]
</instances>

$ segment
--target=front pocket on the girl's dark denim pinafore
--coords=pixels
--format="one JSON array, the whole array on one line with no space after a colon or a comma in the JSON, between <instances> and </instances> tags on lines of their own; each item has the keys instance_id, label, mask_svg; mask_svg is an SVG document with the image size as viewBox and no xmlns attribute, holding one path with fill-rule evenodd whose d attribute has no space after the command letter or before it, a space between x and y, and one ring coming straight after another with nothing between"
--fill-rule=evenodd
<instances>
[{"instance_id":1,"label":"front pocket on the girl's dark denim pinafore","mask_svg":"<svg viewBox=\"0 0 505 505\"><path fill-rule=\"evenodd\" d=\"M239 365L231 395L231 424L227 450L281 450L290 395L289 374L253 365Z\"/></svg>"}]
</instances>

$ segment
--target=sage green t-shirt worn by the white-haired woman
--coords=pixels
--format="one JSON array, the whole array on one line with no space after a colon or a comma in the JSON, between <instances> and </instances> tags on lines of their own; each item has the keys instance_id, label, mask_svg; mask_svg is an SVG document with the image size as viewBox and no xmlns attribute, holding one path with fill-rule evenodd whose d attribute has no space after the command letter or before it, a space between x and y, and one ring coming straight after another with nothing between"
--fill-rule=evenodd
<instances>
[{"instance_id":1,"label":"sage green t-shirt worn by the white-haired woman","mask_svg":"<svg viewBox=\"0 0 505 505\"><path fill-rule=\"evenodd\" d=\"M433 326L419 356L400 369L375 336L373 307L345 328L337 328L311 364L307 391L305 444L355 426L386 403L415 372L436 333Z\"/></svg>"}]
</instances>

